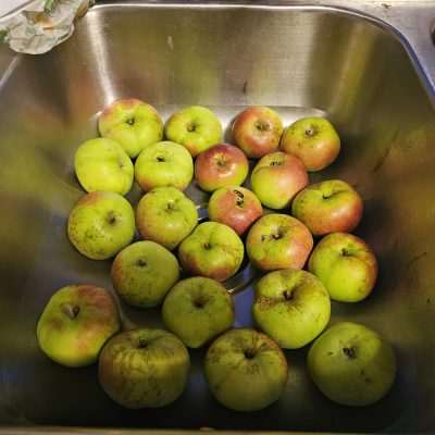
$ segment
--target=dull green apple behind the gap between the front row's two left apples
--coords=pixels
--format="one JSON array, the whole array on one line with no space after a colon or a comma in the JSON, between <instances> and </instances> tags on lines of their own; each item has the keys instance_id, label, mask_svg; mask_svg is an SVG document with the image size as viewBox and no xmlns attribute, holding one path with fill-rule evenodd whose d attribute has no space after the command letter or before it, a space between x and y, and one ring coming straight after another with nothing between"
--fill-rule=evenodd
<instances>
[{"instance_id":1,"label":"dull green apple behind the gap between the front row's two left apples","mask_svg":"<svg viewBox=\"0 0 435 435\"><path fill-rule=\"evenodd\" d=\"M162 307L163 322L190 348L199 348L234 323L234 303L215 279L195 276L171 289Z\"/></svg>"}]
</instances>

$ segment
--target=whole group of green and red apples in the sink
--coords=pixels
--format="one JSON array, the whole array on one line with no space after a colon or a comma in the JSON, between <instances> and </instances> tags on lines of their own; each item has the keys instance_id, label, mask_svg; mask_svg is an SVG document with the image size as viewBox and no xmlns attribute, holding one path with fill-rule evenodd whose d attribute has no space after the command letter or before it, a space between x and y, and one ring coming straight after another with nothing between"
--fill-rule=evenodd
<instances>
[{"instance_id":1,"label":"whole group of green and red apples in the sink","mask_svg":"<svg viewBox=\"0 0 435 435\"><path fill-rule=\"evenodd\" d=\"M37 338L48 357L72 368L98 361L100 384L114 401L161 407L186 386L186 347L209 346L204 373L213 396L229 409L254 411L286 387L282 349L314 341L308 372L331 400L366 406L387 394L396 374L391 346L352 322L324 331L331 300L363 300L377 274L373 251L350 234L363 212L359 194L340 179L309 184L308 172L326 167L340 150L326 119L284 129L274 110L250 107L234 120L229 145L207 108L185 108L163 124L151 105L123 99L98 124L101 137L75 153L88 194L70 214L69 238L89 259L114 257L121 300L162 306L167 331L120 332L111 293L73 284L51 297L39 319ZM211 194L202 223L184 194L194 176ZM134 179L145 191L136 210L124 198ZM258 331L232 328L234 302L224 285L245 254L264 273L252 306Z\"/></svg>"}]
</instances>

